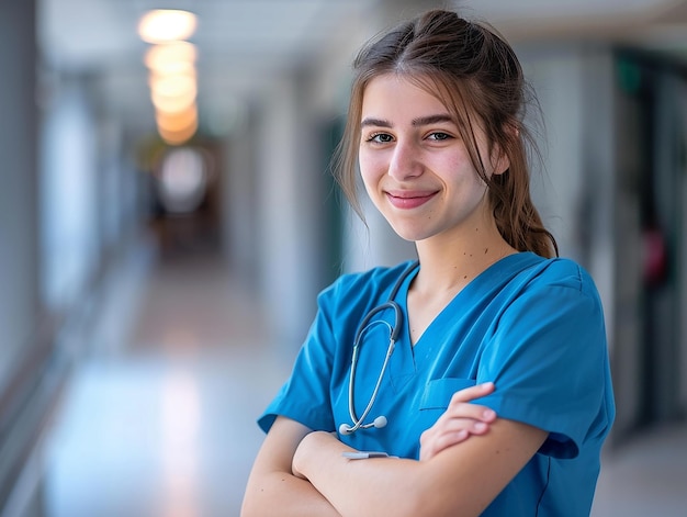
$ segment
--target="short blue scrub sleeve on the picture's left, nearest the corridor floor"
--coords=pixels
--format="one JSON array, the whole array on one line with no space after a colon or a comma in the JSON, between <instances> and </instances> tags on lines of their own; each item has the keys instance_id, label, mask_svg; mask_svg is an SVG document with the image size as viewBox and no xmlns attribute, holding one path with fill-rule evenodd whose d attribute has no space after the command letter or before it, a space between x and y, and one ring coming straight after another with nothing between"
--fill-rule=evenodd
<instances>
[{"instance_id":1,"label":"short blue scrub sleeve on the picture's left, nearest the corridor floor","mask_svg":"<svg viewBox=\"0 0 687 517\"><path fill-rule=\"evenodd\" d=\"M317 297L318 311L305 342L296 357L290 379L258 419L267 432L278 415L296 420L313 430L335 429L329 398L333 350L335 347L330 296L331 289Z\"/></svg>"}]
</instances>

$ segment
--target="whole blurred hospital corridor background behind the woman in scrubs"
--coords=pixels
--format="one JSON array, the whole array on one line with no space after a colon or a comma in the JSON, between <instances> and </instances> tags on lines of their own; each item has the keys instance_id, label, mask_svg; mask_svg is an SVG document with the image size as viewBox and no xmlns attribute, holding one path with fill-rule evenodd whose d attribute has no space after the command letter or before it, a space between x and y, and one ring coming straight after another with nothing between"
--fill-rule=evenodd
<instances>
[{"instance_id":1,"label":"whole blurred hospital corridor background behind the woman in scrubs","mask_svg":"<svg viewBox=\"0 0 687 517\"><path fill-rule=\"evenodd\" d=\"M539 94L536 201L606 308L593 515L687 515L687 2L22 0L0 2L2 517L238 515L317 292L413 254L328 162L354 52L430 7L493 23Z\"/></svg>"}]
</instances>

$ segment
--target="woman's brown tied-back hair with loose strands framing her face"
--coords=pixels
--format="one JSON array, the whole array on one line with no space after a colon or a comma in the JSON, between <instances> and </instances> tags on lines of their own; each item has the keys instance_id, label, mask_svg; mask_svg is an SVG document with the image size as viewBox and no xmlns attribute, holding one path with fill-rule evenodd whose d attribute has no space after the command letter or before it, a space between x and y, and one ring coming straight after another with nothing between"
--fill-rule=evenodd
<instances>
[{"instance_id":1,"label":"woman's brown tied-back hair with loose strands framing her face","mask_svg":"<svg viewBox=\"0 0 687 517\"><path fill-rule=\"evenodd\" d=\"M358 149L365 87L378 76L396 74L437 95L457 119L475 170L488 187L496 225L519 251L558 255L553 235L544 228L529 190L526 143L537 149L522 123L529 87L515 52L486 24L457 13L432 10L365 45L353 63L353 83L346 130L337 149L337 179L353 210L358 200ZM474 127L484 130L508 158L502 175L486 176Z\"/></svg>"}]
</instances>

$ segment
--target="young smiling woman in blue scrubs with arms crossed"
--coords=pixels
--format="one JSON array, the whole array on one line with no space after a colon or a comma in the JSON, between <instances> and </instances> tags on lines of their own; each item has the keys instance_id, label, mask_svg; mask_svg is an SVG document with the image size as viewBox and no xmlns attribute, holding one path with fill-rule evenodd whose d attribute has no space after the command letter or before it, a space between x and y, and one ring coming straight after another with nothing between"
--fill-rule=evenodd
<instances>
[{"instance_id":1,"label":"young smiling woman in blue scrubs with arms crossed","mask_svg":"<svg viewBox=\"0 0 687 517\"><path fill-rule=\"evenodd\" d=\"M358 209L359 167L418 261L319 295L243 515L588 515L615 414L604 315L530 200L513 49L436 10L354 69L340 181Z\"/></svg>"}]
</instances>

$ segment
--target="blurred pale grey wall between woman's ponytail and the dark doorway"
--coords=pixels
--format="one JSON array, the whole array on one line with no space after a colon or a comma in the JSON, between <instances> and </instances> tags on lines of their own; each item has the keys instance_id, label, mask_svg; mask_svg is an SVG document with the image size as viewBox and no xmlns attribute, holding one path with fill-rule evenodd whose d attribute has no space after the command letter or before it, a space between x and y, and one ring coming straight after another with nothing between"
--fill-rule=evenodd
<instances>
[{"instance_id":1,"label":"blurred pale grey wall between woman's ponytail and the dark doorway","mask_svg":"<svg viewBox=\"0 0 687 517\"><path fill-rule=\"evenodd\" d=\"M616 203L610 49L539 43L517 50L544 120L539 142L544 169L532 172L534 204L561 256L578 260L594 276L610 323Z\"/></svg>"}]
</instances>

